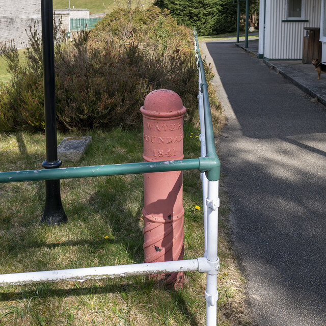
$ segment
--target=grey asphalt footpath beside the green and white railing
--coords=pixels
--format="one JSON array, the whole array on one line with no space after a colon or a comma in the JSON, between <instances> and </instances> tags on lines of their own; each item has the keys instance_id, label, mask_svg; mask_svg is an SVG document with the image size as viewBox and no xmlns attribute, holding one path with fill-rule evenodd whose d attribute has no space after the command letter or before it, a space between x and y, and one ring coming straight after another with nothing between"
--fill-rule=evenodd
<instances>
[{"instance_id":1,"label":"grey asphalt footpath beside the green and white railing","mask_svg":"<svg viewBox=\"0 0 326 326\"><path fill-rule=\"evenodd\" d=\"M325 326L326 107L233 42L201 47L228 118L222 185L254 319Z\"/></svg>"}]
</instances>

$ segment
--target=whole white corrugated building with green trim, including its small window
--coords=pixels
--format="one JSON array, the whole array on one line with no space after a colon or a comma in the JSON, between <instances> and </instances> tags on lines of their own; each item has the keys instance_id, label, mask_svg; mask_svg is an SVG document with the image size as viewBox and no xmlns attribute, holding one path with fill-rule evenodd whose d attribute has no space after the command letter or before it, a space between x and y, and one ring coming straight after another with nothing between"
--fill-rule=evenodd
<instances>
[{"instance_id":1,"label":"whole white corrugated building with green trim, including its small window","mask_svg":"<svg viewBox=\"0 0 326 326\"><path fill-rule=\"evenodd\" d=\"M304 28L320 28L322 61L326 61L326 0L260 0L260 58L303 58Z\"/></svg>"}]
</instances>

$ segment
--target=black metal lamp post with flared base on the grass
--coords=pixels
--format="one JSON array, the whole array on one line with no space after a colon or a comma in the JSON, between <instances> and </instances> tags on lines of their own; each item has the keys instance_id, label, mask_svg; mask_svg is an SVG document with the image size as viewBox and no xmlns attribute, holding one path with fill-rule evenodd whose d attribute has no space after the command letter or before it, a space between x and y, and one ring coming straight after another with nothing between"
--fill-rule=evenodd
<instances>
[{"instance_id":1,"label":"black metal lamp post with flared base on the grass","mask_svg":"<svg viewBox=\"0 0 326 326\"><path fill-rule=\"evenodd\" d=\"M53 44L53 5L52 0L41 0L43 82L45 112L46 159L45 169L59 168L62 164L57 151L55 53ZM41 223L56 225L67 221L60 196L60 180L45 181L45 208Z\"/></svg>"}]
</instances>

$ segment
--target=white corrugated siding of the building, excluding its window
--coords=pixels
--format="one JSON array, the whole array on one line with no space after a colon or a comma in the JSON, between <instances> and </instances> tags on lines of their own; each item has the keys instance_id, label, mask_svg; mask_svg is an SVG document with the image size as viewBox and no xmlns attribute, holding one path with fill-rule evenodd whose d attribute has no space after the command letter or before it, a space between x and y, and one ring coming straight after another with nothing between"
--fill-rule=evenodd
<instances>
[{"instance_id":1,"label":"white corrugated siding of the building, excluding its window","mask_svg":"<svg viewBox=\"0 0 326 326\"><path fill-rule=\"evenodd\" d=\"M308 22L282 22L287 19L286 3L266 1L264 56L268 59L302 59L304 27L320 27L321 0L305 0Z\"/></svg>"}]
</instances>

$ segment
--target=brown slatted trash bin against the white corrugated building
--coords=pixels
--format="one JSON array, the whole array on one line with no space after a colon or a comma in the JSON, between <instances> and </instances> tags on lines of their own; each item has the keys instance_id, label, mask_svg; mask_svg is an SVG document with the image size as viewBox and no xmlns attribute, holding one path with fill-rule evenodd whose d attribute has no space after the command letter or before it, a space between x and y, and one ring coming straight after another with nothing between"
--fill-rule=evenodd
<instances>
[{"instance_id":1,"label":"brown slatted trash bin against the white corrugated building","mask_svg":"<svg viewBox=\"0 0 326 326\"><path fill-rule=\"evenodd\" d=\"M302 63L311 64L312 59L321 61L321 42L319 42L319 27L304 27L304 48Z\"/></svg>"}]
</instances>

